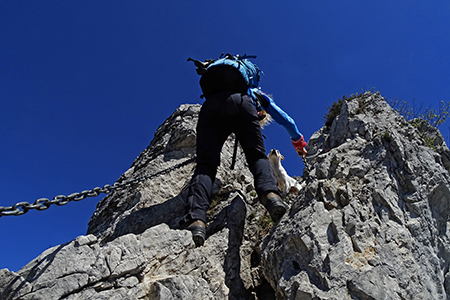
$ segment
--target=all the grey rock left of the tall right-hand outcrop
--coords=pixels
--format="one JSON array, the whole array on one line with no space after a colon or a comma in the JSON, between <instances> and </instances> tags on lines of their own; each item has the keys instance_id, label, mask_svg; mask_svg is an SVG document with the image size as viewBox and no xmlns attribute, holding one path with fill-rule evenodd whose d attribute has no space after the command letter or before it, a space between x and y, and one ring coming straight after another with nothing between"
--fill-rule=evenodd
<instances>
[{"instance_id":1,"label":"all the grey rock left of the tall right-hand outcrop","mask_svg":"<svg viewBox=\"0 0 450 300\"><path fill-rule=\"evenodd\" d=\"M261 275L259 226L267 214L234 138L222 151L207 240L179 230L195 167L200 105L180 106L101 200L88 234L42 253L17 273L0 271L0 299L244 299L271 293ZM144 179L144 180L142 180ZM245 228L244 228L244 224ZM264 299L264 298L262 298Z\"/></svg>"}]
</instances>

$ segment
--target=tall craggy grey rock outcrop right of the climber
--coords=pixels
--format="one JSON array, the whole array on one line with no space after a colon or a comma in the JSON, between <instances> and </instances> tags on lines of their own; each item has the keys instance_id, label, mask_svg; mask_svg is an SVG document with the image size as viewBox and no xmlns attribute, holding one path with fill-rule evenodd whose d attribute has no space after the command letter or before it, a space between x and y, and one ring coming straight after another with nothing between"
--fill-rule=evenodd
<instances>
[{"instance_id":1,"label":"tall craggy grey rock outcrop right of the climber","mask_svg":"<svg viewBox=\"0 0 450 300\"><path fill-rule=\"evenodd\" d=\"M448 148L433 134L439 152L379 94L343 101L263 245L279 299L448 299Z\"/></svg>"}]
</instances>

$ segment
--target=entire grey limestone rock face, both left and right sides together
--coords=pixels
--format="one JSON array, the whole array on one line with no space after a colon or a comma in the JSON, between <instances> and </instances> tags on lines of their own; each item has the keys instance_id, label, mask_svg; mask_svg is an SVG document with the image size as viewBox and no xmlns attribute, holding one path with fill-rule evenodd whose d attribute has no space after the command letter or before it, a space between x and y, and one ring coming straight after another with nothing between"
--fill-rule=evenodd
<instances>
[{"instance_id":1,"label":"entire grey limestone rock face, both left and right sides together","mask_svg":"<svg viewBox=\"0 0 450 300\"><path fill-rule=\"evenodd\" d=\"M86 236L0 270L0 299L450 299L442 136L379 94L340 104L311 137L305 187L273 227L241 150L230 171L226 142L200 248L178 229L200 110L182 105L118 180L128 184L99 202Z\"/></svg>"}]
</instances>

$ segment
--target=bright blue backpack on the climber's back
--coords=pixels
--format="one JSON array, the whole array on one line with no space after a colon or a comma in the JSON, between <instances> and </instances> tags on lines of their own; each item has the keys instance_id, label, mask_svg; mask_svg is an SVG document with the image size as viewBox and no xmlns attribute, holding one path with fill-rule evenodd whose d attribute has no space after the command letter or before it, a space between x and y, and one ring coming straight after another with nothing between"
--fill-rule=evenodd
<instances>
[{"instance_id":1,"label":"bright blue backpack on the climber's back","mask_svg":"<svg viewBox=\"0 0 450 300\"><path fill-rule=\"evenodd\" d=\"M256 56L247 54L245 54L244 56L233 56L231 54L226 54L225 56L223 56L222 54L217 60L207 59L206 61L201 62L198 60L193 60L192 58L188 58L188 61L194 62L195 66L197 67L198 75L204 75L206 72L208 72L209 68L212 68L214 66L232 66L239 70L249 88L257 88L259 87L261 70L257 65L248 60L248 58L256 58Z\"/></svg>"}]
</instances>

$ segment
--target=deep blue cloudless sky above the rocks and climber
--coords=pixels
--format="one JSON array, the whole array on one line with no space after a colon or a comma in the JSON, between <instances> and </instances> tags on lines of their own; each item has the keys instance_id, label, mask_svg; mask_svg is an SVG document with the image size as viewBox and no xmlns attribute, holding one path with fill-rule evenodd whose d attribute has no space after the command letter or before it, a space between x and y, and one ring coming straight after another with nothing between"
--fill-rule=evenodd
<instances>
[{"instance_id":1,"label":"deep blue cloudless sky above the rocks and climber","mask_svg":"<svg viewBox=\"0 0 450 300\"><path fill-rule=\"evenodd\" d=\"M0 206L113 184L180 104L202 103L188 57L258 55L263 90L307 139L363 89L436 109L449 28L448 0L2 0ZM286 131L264 134L301 175ZM85 234L101 198L1 217L0 269Z\"/></svg>"}]
</instances>

